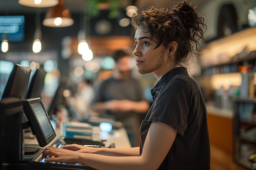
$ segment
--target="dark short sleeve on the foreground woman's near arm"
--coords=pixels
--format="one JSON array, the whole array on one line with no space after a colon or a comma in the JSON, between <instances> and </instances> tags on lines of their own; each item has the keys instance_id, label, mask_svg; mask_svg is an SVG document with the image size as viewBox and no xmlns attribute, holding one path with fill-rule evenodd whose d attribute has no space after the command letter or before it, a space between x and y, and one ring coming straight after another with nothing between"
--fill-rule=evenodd
<instances>
[{"instance_id":1,"label":"dark short sleeve on the foreground woman's near arm","mask_svg":"<svg viewBox=\"0 0 256 170\"><path fill-rule=\"evenodd\" d=\"M183 136L188 126L190 96L190 87L182 79L167 82L159 91L148 120L168 124Z\"/></svg>"}]
</instances>

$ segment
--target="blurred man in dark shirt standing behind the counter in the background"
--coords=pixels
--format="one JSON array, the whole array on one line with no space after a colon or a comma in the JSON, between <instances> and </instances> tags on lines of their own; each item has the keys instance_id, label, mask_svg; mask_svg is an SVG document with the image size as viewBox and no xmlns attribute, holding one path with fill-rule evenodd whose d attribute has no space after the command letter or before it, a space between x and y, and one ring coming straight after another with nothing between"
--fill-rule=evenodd
<instances>
[{"instance_id":1,"label":"blurred man in dark shirt standing behind the counter in the background","mask_svg":"<svg viewBox=\"0 0 256 170\"><path fill-rule=\"evenodd\" d=\"M139 146L139 114L145 114L150 104L140 82L131 76L131 56L118 50L112 57L115 61L112 75L97 86L92 108L121 121L131 146Z\"/></svg>"}]
</instances>

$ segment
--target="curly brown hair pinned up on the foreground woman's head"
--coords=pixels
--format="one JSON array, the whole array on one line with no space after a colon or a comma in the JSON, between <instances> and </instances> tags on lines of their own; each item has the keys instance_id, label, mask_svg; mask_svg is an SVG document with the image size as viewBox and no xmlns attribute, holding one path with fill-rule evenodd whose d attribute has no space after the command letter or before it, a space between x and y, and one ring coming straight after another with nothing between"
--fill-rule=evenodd
<instances>
[{"instance_id":1,"label":"curly brown hair pinned up on the foreground woman's head","mask_svg":"<svg viewBox=\"0 0 256 170\"><path fill-rule=\"evenodd\" d=\"M136 29L141 26L150 33L151 40L153 37L157 38L155 48L161 44L169 48L170 42L177 42L174 62L182 66L182 63L191 59L190 53L198 54L202 46L200 43L204 42L204 30L207 26L204 18L198 16L196 8L196 5L184 0L170 10L149 7L139 11L131 19L132 34L135 35Z\"/></svg>"}]
</instances>

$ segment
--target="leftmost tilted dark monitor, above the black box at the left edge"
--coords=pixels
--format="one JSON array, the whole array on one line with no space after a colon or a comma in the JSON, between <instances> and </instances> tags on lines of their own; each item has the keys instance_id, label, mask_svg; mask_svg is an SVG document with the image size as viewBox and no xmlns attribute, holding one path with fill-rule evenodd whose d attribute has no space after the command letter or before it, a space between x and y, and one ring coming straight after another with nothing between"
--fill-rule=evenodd
<instances>
[{"instance_id":1,"label":"leftmost tilted dark monitor, above the black box at the left edge","mask_svg":"<svg viewBox=\"0 0 256 170\"><path fill-rule=\"evenodd\" d=\"M17 97L19 99L25 99L30 73L31 68L15 64L9 74L2 98Z\"/></svg>"}]
</instances>

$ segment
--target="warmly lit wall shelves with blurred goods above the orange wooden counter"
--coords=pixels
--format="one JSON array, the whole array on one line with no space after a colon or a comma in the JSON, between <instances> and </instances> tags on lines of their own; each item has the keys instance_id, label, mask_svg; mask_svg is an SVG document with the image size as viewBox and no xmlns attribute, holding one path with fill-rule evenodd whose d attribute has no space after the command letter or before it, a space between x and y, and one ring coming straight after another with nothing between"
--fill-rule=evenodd
<instances>
[{"instance_id":1,"label":"warmly lit wall shelves with blurred goods above the orange wooden counter","mask_svg":"<svg viewBox=\"0 0 256 170\"><path fill-rule=\"evenodd\" d=\"M240 87L241 96L255 94L256 27L206 44L201 55L202 87L211 94L223 87Z\"/></svg>"}]
</instances>

